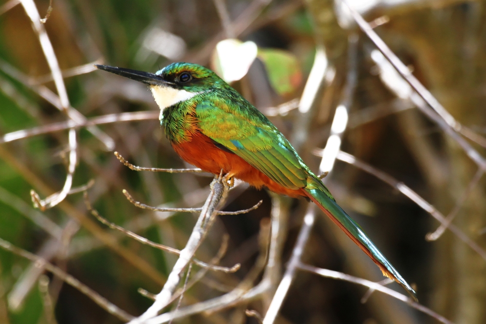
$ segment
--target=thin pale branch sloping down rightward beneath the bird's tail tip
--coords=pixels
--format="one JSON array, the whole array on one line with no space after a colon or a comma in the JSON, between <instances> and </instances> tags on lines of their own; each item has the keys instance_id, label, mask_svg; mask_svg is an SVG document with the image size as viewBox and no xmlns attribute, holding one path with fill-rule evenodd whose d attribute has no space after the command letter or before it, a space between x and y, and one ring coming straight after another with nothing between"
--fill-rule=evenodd
<instances>
[{"instance_id":1,"label":"thin pale branch sloping down rightward beneath the bird's tail tip","mask_svg":"<svg viewBox=\"0 0 486 324\"><path fill-rule=\"evenodd\" d=\"M309 266L307 264L302 264L302 263L298 264L298 268L301 269L301 270L310 272L310 273L315 273L315 274L321 275L321 276L326 277L326 278L333 278L333 279L338 279L338 280L349 281L349 282L352 282L352 283L355 283L355 284L358 284L358 285L363 285L363 286L368 287L370 289L381 291L383 293L386 293L386 294L388 294L392 297L395 297L395 298L401 300L402 302L407 303L411 307L414 307L415 309L417 309L417 310L419 310L419 311L421 311L421 312L423 312L427 315L432 316L434 319L436 319L437 321L439 321L441 323L453 324L451 321L449 321L445 317L435 313L433 310L414 302L412 300L412 298L407 297L407 296L405 296L405 295L403 295L403 294L401 294L401 293L399 293L395 290L391 290L390 288L384 287L384 286L382 286L382 284L380 284L378 282L373 282L373 281L369 281L369 280L366 280L366 279L354 277L352 275L340 273L340 272L337 272L337 271L316 268L316 267L312 267L312 266Z\"/></svg>"}]
</instances>

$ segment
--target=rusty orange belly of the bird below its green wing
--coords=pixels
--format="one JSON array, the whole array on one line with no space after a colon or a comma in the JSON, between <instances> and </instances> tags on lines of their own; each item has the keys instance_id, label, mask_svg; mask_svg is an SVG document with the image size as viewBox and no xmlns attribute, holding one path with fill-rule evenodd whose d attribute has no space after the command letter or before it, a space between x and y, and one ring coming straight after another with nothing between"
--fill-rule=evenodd
<instances>
[{"instance_id":1,"label":"rusty orange belly of the bird below its green wing","mask_svg":"<svg viewBox=\"0 0 486 324\"><path fill-rule=\"evenodd\" d=\"M234 153L218 148L211 139L201 133L193 134L190 142L172 144L174 151L186 162L214 174L221 170L255 188L267 187L270 190L291 197L304 196L302 190L285 188L263 172L255 169L248 162Z\"/></svg>"}]
</instances>

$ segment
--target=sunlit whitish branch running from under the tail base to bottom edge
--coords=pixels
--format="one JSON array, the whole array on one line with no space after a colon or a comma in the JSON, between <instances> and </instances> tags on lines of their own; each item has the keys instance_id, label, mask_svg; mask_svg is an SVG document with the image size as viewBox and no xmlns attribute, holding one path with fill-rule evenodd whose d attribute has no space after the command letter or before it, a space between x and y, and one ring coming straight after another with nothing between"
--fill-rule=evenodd
<instances>
[{"instance_id":1,"label":"sunlit whitish branch running from under the tail base to bottom edge","mask_svg":"<svg viewBox=\"0 0 486 324\"><path fill-rule=\"evenodd\" d=\"M297 266L300 263L300 258L304 253L304 247L311 234L312 225L315 220L315 205L310 204L307 208L307 213L304 217L304 222L300 228L299 236L295 242L294 249L292 250L292 256L290 257L289 263L287 264L287 270L285 271L280 284L278 285L277 291L275 292L274 298L268 307L265 318L263 319L263 324L273 324L277 318L278 311L282 307L283 300L289 291L290 285L295 277L295 272Z\"/></svg>"}]
</instances>

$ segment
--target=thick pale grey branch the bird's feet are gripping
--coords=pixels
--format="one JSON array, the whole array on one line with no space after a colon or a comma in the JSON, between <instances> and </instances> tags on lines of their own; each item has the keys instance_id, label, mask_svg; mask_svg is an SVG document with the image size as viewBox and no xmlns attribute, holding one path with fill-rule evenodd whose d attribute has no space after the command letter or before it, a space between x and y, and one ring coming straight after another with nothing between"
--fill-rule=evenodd
<instances>
[{"instance_id":1,"label":"thick pale grey branch the bird's feet are gripping","mask_svg":"<svg viewBox=\"0 0 486 324\"><path fill-rule=\"evenodd\" d=\"M194 225L186 247L181 251L179 259L175 263L174 268L167 278L167 282L162 290L157 294L154 304L152 304L152 306L149 307L138 318L130 321L131 324L146 323L147 320L156 317L158 312L170 303L174 290L180 281L179 274L189 264L202 240L206 237L208 229L211 227L216 216L216 208L224 200L227 190L228 187L226 181L220 174L219 177L216 177L213 180L211 184L211 193L204 204L203 210L201 211L196 224Z\"/></svg>"}]
</instances>

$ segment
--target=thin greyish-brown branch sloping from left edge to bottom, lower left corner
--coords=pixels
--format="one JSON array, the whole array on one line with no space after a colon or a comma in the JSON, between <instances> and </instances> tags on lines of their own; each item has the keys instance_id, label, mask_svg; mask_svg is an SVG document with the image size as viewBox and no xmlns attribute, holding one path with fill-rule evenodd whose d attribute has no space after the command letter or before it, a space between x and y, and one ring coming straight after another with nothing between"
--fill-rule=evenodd
<instances>
[{"instance_id":1,"label":"thin greyish-brown branch sloping from left edge to bottom, lower left corner","mask_svg":"<svg viewBox=\"0 0 486 324\"><path fill-rule=\"evenodd\" d=\"M116 305L110 303L106 298L102 297L100 294L98 294L96 291L92 290L91 288L87 287L85 284L81 283L78 279L74 278L68 273L65 273L58 267L52 265L51 263L47 262L45 259L36 256L30 252L27 252L12 243L0 239L0 247L3 248L4 250L10 251L17 256L22 256L25 257L26 259L29 259L33 262L36 262L38 266L43 266L54 274L55 276L59 277L62 279L64 282L69 284L70 286L74 287L75 289L81 291L84 293L87 297L89 297L91 300L93 300L96 304L98 304L100 307L105 309L108 313L116 316L119 318L121 321L127 322L133 319L133 316L125 312L123 309L117 307Z\"/></svg>"}]
</instances>

